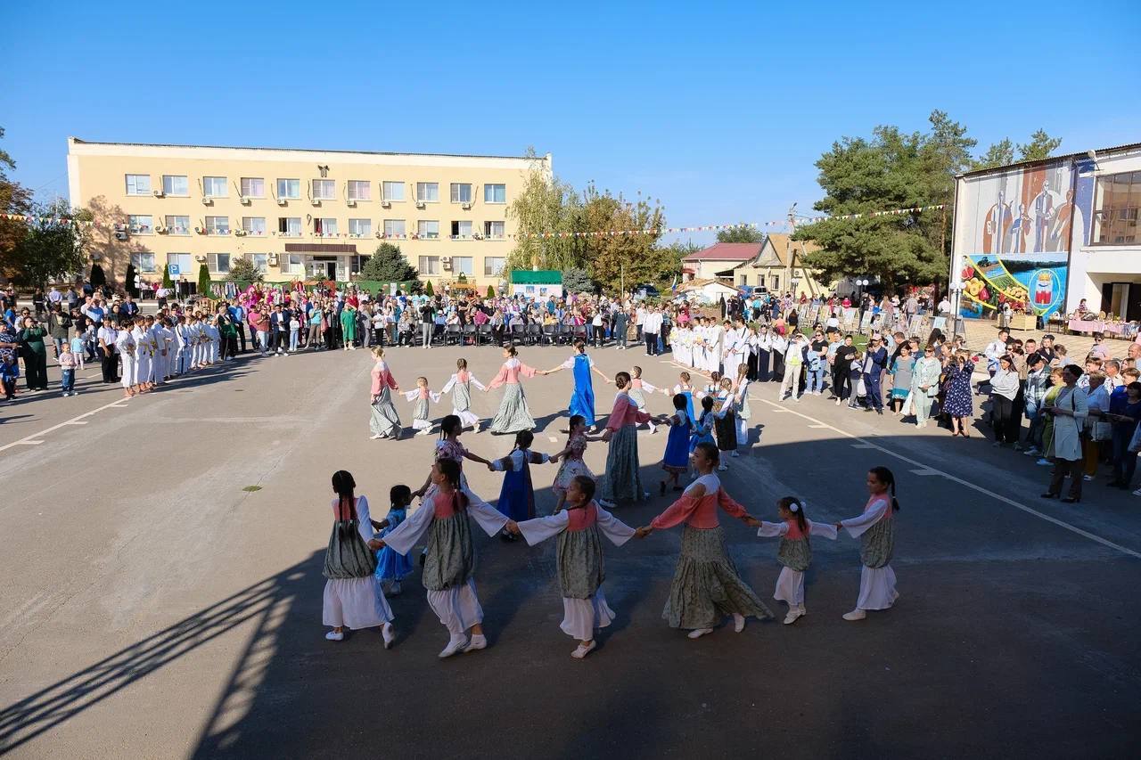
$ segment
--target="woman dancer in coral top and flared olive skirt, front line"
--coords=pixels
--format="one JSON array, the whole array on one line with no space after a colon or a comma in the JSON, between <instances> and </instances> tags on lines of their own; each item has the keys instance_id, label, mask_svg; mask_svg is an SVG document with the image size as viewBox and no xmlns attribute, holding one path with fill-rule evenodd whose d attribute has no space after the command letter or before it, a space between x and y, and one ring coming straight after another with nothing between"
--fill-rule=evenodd
<instances>
[{"instance_id":1,"label":"woman dancer in coral top and flared olive skirt, front line","mask_svg":"<svg viewBox=\"0 0 1141 760\"><path fill-rule=\"evenodd\" d=\"M681 555L662 612L671 628L690 629L689 638L696 639L711 633L726 616L733 615L734 630L739 633L745 630L746 616L764 620L772 617L772 613L737 574L718 522L718 508L753 527L760 527L761 522L721 487L713 472L718 462L715 446L699 444L694 462L699 477L669 509L648 526L638 528L637 535L644 539L657 528L685 523Z\"/></svg>"}]
</instances>

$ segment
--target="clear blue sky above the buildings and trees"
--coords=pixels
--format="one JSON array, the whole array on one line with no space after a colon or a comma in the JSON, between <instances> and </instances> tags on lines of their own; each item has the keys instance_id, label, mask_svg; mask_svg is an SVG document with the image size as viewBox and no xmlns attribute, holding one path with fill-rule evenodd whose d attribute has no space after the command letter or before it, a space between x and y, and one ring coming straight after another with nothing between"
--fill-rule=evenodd
<instances>
[{"instance_id":1,"label":"clear blue sky above the buildings and trees","mask_svg":"<svg viewBox=\"0 0 1141 760\"><path fill-rule=\"evenodd\" d=\"M980 152L1039 127L1063 152L1141 142L1128 1L761 5L14 0L0 11L2 144L48 200L67 193L68 135L534 145L574 185L640 189L680 226L809 209L833 140L923 129L932 108Z\"/></svg>"}]
</instances>

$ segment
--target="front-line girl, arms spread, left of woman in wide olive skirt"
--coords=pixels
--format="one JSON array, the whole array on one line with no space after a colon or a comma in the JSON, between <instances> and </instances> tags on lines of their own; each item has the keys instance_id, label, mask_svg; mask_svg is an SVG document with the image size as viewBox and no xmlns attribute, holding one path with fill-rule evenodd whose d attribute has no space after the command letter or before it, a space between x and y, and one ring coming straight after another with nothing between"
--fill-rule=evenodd
<instances>
[{"instance_id":1,"label":"front-line girl, arms spread, left of woman in wide olive skirt","mask_svg":"<svg viewBox=\"0 0 1141 760\"><path fill-rule=\"evenodd\" d=\"M558 536L559 587L563 591L563 623L567 636L578 639L572 657L582 660L597 646L594 630L614 621L614 611L606 604L602 581L606 567L602 536L621 547L634 529L594 501L594 480L577 475L567 487L567 508L550 517L523 523L509 522L508 528L521 534L529 545Z\"/></svg>"}]
</instances>

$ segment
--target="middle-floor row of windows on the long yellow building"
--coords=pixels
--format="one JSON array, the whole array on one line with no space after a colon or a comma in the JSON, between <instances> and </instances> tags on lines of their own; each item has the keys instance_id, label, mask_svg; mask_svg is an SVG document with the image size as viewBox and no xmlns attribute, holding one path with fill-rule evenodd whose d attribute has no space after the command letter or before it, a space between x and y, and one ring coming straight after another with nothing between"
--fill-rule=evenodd
<instances>
[{"instance_id":1,"label":"middle-floor row of windows on the long yellow building","mask_svg":"<svg viewBox=\"0 0 1141 760\"><path fill-rule=\"evenodd\" d=\"M440 236L438 219L420 219L414 229L416 237L423 240L436 240ZM266 217L242 217L241 227L245 235L265 235L268 227ZM192 227L191 217L168 215L161 218L161 224L155 227L154 216L149 213L131 213L127 216L127 229L136 235L151 235L164 233L168 235L189 235L192 232L200 232L205 235L229 235L233 231L229 226L229 217L205 217L202 226ZM505 236L505 225L502 221L485 221L482 226L469 220L452 221L448 227L448 236L453 240L467 240L482 236L486 240L503 240ZM278 217L277 235L283 237L300 237L302 233L301 217ZM346 232L349 237L369 237L373 234L372 219L349 219L347 229L342 231L335 217L314 217L311 219L310 234L317 237L338 237L341 232ZM377 227L377 232L386 237L407 237L410 228L404 219L383 219Z\"/></svg>"}]
</instances>

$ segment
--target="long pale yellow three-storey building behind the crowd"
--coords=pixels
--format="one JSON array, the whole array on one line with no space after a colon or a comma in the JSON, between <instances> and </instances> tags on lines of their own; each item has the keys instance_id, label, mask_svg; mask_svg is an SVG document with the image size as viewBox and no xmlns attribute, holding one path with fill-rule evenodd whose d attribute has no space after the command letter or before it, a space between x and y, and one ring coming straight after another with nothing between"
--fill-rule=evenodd
<instances>
[{"instance_id":1,"label":"long pale yellow three-storey building behind the crowd","mask_svg":"<svg viewBox=\"0 0 1141 760\"><path fill-rule=\"evenodd\" d=\"M267 282L348 281L381 242L421 280L500 286L507 208L551 155L474 156L67 140L71 202L108 281L196 283L248 258Z\"/></svg>"}]
</instances>

